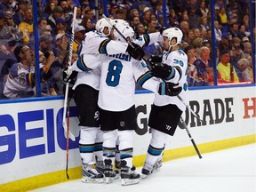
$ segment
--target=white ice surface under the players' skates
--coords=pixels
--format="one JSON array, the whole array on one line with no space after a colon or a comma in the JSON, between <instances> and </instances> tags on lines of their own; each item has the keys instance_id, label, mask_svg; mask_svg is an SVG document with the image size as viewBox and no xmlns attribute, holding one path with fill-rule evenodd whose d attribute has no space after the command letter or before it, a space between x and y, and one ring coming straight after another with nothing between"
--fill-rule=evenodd
<instances>
[{"instance_id":1,"label":"white ice surface under the players' skates","mask_svg":"<svg viewBox=\"0 0 256 192\"><path fill-rule=\"evenodd\" d=\"M256 192L256 144L164 162L137 185L88 184L71 180L34 192ZM137 169L140 172L141 167Z\"/></svg>"}]
</instances>

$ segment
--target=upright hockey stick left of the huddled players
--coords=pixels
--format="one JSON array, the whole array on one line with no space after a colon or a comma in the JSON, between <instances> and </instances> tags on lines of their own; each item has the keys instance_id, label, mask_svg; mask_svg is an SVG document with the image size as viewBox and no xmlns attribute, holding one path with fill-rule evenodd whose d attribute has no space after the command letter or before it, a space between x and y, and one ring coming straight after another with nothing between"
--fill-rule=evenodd
<instances>
[{"instance_id":1,"label":"upright hockey stick left of the huddled players","mask_svg":"<svg viewBox=\"0 0 256 192\"><path fill-rule=\"evenodd\" d=\"M73 14L73 22L72 22L72 34L69 42L69 52L68 52L68 66L71 66L72 52L73 52L73 41L74 41L74 33L75 33L75 23L76 23L76 10L77 7L74 8ZM66 134L66 176L69 180L68 175L68 148L69 148L69 137L71 140L76 140L76 137L69 132L69 99L68 99L68 87L69 83L66 84L65 90L65 100L64 100L64 111L63 111L63 121L62 125L64 127L64 133ZM68 109L67 109L68 106ZM66 115L67 115L67 124L66 124Z\"/></svg>"}]
</instances>

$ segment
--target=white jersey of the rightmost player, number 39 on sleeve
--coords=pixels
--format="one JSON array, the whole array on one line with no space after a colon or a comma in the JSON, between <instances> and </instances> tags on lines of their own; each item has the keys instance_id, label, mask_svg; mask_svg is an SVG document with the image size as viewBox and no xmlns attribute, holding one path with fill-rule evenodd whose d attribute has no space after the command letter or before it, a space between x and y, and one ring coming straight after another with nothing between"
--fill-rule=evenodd
<instances>
[{"instance_id":1,"label":"white jersey of the rightmost player, number 39 on sleeve","mask_svg":"<svg viewBox=\"0 0 256 192\"><path fill-rule=\"evenodd\" d=\"M188 56L182 50L176 50L173 52L164 52L162 63L173 66L174 71L172 74L172 78L168 80L168 82L179 83L179 86L182 87L182 91L180 92L180 98L188 103L187 92L188 92L188 84L187 84L187 68L188 68ZM168 104L177 105L180 110L186 110L186 106L178 97L169 97L165 95L155 95L154 104L156 106L164 106Z\"/></svg>"}]
</instances>

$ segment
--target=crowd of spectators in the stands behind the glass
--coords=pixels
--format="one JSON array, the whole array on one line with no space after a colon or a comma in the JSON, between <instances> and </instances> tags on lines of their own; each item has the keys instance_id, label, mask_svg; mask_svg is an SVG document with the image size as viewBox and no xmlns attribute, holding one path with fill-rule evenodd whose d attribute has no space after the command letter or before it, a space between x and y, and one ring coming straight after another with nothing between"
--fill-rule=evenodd
<instances>
[{"instance_id":1,"label":"crowd of spectators in the stands behind the glass","mask_svg":"<svg viewBox=\"0 0 256 192\"><path fill-rule=\"evenodd\" d=\"M68 64L74 7L77 7L74 54L79 52L84 34L95 27L95 10L99 11L100 17L104 13L101 0L98 9L92 0L36 2L37 17L33 17L31 0L2 0L0 3L0 98L4 98L4 84L12 66L19 62L14 54L15 49L26 44L35 50L35 19L40 55L44 55L44 62L52 60L50 55L54 55L51 78L47 84L44 82L42 95L61 95L61 73ZM218 76L218 84L253 82L252 36L255 36L255 26L252 26L254 34L251 34L250 1L215 0L212 9L209 0L166 2L167 26L164 26L162 0L108 0L105 14L109 18L127 20L137 37L161 31L164 27L180 28L183 32L181 46L188 54L188 86L213 85L214 76ZM211 10L214 11L213 25ZM212 54L213 47L216 55ZM145 51L161 54L161 42L145 47ZM217 60L214 63L215 56ZM45 88L46 85L50 87Z\"/></svg>"}]
</instances>

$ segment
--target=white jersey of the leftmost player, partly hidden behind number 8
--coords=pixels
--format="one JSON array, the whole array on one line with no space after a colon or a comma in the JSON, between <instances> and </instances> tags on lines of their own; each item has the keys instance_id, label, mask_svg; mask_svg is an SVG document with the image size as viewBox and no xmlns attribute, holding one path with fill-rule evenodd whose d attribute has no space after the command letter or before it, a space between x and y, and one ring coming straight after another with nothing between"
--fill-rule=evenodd
<instances>
[{"instance_id":1,"label":"white jersey of the leftmost player, partly hidden behind number 8","mask_svg":"<svg viewBox=\"0 0 256 192\"><path fill-rule=\"evenodd\" d=\"M99 54L116 54L125 52L128 44L111 41L107 36L97 32L90 31L85 34L84 40L79 50L80 58L73 63L71 70L76 70L78 73L76 84L88 84L92 88L100 89L100 55ZM90 55L87 55L90 54ZM84 56L83 56L84 55ZM90 70L92 69L93 70ZM86 73L84 73L86 71Z\"/></svg>"}]
</instances>

